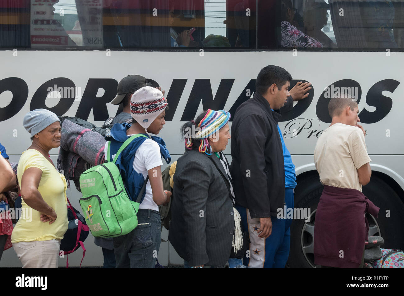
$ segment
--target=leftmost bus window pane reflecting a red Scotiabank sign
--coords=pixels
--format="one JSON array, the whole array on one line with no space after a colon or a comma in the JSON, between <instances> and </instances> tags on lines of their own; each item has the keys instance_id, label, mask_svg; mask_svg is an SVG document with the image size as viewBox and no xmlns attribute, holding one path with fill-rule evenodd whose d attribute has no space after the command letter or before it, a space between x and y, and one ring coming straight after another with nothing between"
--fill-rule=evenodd
<instances>
[{"instance_id":1,"label":"leftmost bus window pane reflecting a red Scotiabank sign","mask_svg":"<svg viewBox=\"0 0 404 296\"><path fill-rule=\"evenodd\" d=\"M102 0L0 2L0 46L102 48Z\"/></svg>"}]
</instances>

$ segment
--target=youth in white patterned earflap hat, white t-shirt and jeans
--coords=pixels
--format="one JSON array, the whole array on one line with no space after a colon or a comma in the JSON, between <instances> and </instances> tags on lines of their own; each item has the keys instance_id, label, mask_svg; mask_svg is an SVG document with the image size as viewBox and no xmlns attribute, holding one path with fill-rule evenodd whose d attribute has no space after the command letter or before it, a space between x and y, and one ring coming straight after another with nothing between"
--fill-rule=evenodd
<instances>
[{"instance_id":1,"label":"youth in white patterned earflap hat, white t-shirt and jeans","mask_svg":"<svg viewBox=\"0 0 404 296\"><path fill-rule=\"evenodd\" d=\"M152 137L150 134L157 135L163 128L166 123L164 121L166 108L167 101L161 91L149 86L142 87L133 93L130 99L132 125L126 122L114 124L110 133L111 159L120 145L129 137L136 134L147 135L147 138L134 139L121 153L123 155L120 167L121 175L126 178L124 182L129 184L126 189L132 200L136 197L130 192L133 189L131 187L134 186L130 186L130 182L133 180L129 180L128 176L138 173L143 174L145 181L147 181L147 176L149 179L146 183L145 197L140 203L137 213L138 226L126 236L114 238L117 268L154 268L156 263L154 252L159 250L161 242L161 219L158 205L167 204L171 196L170 191L163 190L161 157L163 155L167 163L171 158L164 141L161 138ZM139 147L132 150L135 145L139 145ZM105 145L105 155L107 155L107 146ZM133 153L124 153L125 151L135 151L135 157L133 158ZM131 160L133 162L130 162ZM124 170L123 173L122 170Z\"/></svg>"}]
</instances>

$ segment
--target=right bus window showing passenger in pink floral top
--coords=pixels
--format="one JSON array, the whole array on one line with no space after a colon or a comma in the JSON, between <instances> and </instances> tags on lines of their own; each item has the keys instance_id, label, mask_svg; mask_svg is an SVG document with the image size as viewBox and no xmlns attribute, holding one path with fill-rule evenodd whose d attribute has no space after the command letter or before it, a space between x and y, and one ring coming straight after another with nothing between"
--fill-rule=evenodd
<instances>
[{"instance_id":1,"label":"right bus window showing passenger in pink floral top","mask_svg":"<svg viewBox=\"0 0 404 296\"><path fill-rule=\"evenodd\" d=\"M258 48L386 50L404 47L404 1L258 1Z\"/></svg>"}]
</instances>

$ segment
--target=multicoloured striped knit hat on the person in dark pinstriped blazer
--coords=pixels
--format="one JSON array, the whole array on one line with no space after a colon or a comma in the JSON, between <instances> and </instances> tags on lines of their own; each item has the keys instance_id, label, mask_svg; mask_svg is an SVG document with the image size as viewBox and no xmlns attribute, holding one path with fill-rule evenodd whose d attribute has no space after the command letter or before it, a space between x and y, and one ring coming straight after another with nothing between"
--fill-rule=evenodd
<instances>
[{"instance_id":1,"label":"multicoloured striped knit hat on the person in dark pinstriped blazer","mask_svg":"<svg viewBox=\"0 0 404 296\"><path fill-rule=\"evenodd\" d=\"M195 130L194 138L201 140L199 152L206 153L207 155L212 154L212 148L209 145L208 138L223 128L229 120L230 113L225 110L215 111L209 109L208 112L206 112L206 115L202 118L201 122L197 125L198 128ZM185 147L192 149L192 146L192 140L185 139Z\"/></svg>"}]
</instances>

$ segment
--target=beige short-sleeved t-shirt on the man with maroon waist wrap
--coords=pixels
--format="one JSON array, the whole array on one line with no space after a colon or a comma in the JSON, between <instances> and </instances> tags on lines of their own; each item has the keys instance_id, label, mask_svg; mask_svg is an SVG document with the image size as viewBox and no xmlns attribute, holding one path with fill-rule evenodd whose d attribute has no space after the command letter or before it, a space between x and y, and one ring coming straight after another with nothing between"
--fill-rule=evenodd
<instances>
[{"instance_id":1,"label":"beige short-sleeved t-shirt on the man with maroon waist wrap","mask_svg":"<svg viewBox=\"0 0 404 296\"><path fill-rule=\"evenodd\" d=\"M362 192L357 169L372 161L360 128L336 123L324 130L314 149L320 182Z\"/></svg>"}]
</instances>

